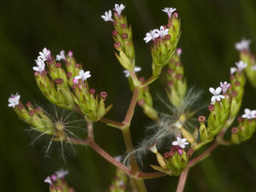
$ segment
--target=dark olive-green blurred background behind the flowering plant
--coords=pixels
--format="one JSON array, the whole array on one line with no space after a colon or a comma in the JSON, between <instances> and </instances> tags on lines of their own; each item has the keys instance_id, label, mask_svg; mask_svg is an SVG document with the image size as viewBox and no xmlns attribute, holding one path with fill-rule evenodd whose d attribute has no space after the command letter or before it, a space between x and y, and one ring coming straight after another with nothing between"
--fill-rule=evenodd
<instances>
[{"instance_id":1,"label":"dark olive-green blurred background behind the flowering plant","mask_svg":"<svg viewBox=\"0 0 256 192\"><path fill-rule=\"evenodd\" d=\"M106 191L115 177L115 167L91 148L77 148L75 157L66 162L52 150L44 158L44 141L31 144L21 122L7 107L10 93L19 92L23 102L46 106L48 100L37 88L32 67L38 52L44 47L52 54L61 50L74 52L77 63L90 70L90 86L97 92L108 92L107 103L113 103L108 118L122 121L131 99L123 68L114 55L113 26L100 15L113 9L115 3L125 4L124 15L132 24L136 51L136 65L143 68L140 76L149 77L151 56L143 38L150 29L167 23L164 7L177 8L182 20L182 35L178 47L183 50L181 60L189 86L205 91L209 101L210 86L229 81L230 67L238 61L234 44L242 37L252 40L251 50L256 53L256 1L33 1L12 0L1 2L0 7L0 189L1 191L47 191L47 175L60 168L69 170L70 186L77 191ZM150 87L154 97L164 95L164 81ZM244 108L256 109L256 90L247 83ZM157 105L157 103L156 103ZM49 108L51 110L51 108ZM51 112L51 111L50 111ZM240 111L239 115L242 115ZM150 120L136 108L131 134L136 141L143 138ZM229 134L228 131L227 134ZM124 154L122 134L117 129L95 123L95 140L112 156ZM202 149L204 150L204 149ZM173 191L178 177L146 180L148 191ZM256 136L246 143L218 147L202 163L191 168L185 191L256 191Z\"/></svg>"}]
</instances>

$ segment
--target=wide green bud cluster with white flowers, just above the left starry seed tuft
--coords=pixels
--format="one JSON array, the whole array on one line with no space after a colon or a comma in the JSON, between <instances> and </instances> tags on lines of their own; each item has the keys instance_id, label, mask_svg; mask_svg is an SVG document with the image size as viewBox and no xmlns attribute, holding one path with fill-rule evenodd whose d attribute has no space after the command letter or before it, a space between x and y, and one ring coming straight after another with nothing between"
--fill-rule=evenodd
<instances>
[{"instance_id":1,"label":"wide green bud cluster with white flowers, just above the left starry seed tuft","mask_svg":"<svg viewBox=\"0 0 256 192\"><path fill-rule=\"evenodd\" d=\"M61 63L56 63L51 51L46 48L36 60L37 67L33 67L36 83L42 93L56 106L79 111L90 120L99 120L111 109L111 105L105 108L104 104L108 94L101 92L100 98L98 95L95 97L95 89L90 89L87 82L91 76L90 71L84 72L71 51L67 56L61 51L56 60L65 61L67 72ZM45 61L48 70L45 69Z\"/></svg>"}]
</instances>

